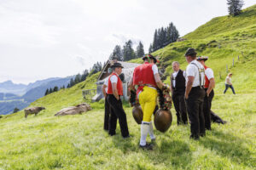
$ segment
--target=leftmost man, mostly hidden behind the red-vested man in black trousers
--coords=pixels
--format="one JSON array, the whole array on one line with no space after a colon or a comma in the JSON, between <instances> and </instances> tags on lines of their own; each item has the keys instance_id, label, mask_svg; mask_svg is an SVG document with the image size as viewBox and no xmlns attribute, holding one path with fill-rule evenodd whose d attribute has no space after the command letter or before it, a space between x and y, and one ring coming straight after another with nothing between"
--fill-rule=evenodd
<instances>
[{"instance_id":1,"label":"leftmost man, mostly hidden behind the red-vested man in black trousers","mask_svg":"<svg viewBox=\"0 0 256 170\"><path fill-rule=\"evenodd\" d=\"M109 115L110 115L110 106L108 103L108 78L105 79L104 84L102 85L102 94L105 97L105 115L104 115L104 130L108 130Z\"/></svg>"}]
</instances>

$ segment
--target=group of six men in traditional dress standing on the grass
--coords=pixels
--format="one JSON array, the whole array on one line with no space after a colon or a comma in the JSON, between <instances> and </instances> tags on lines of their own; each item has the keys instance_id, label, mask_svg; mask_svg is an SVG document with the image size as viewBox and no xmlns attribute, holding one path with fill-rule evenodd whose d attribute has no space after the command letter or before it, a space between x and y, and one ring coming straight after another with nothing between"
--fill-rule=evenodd
<instances>
[{"instance_id":1,"label":"group of six men in traditional dress standing on the grass","mask_svg":"<svg viewBox=\"0 0 256 170\"><path fill-rule=\"evenodd\" d=\"M206 135L206 129L211 130L211 105L215 85L212 69L205 65L207 58L196 58L194 48L189 48L185 53L189 65L186 71L179 69L177 61L172 63L171 76L172 99L177 111L177 124L188 124L187 112L191 130L191 139L199 139ZM155 65L157 59L153 55L143 56L143 65L135 68L128 84L131 93L136 94L137 100L143 110L143 122L141 124L141 139L139 146L152 150L153 145L146 143L149 134L151 141L155 140L151 117L154 113L157 88L166 88L161 82L158 68ZM104 129L110 135L115 134L117 119L123 138L129 138L129 130L125 111L120 96L123 95L123 86L119 78L123 66L118 62L111 65L113 73L102 86L105 95L105 121ZM137 89L136 89L137 88ZM110 117L108 117L110 112ZM214 113L212 113L214 114Z\"/></svg>"}]
</instances>

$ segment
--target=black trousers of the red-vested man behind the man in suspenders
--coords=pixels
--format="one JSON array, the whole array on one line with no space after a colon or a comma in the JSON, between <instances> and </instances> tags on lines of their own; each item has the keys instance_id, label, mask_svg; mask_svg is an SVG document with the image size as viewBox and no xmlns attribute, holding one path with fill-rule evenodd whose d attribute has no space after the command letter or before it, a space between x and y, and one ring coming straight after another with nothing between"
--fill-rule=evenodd
<instances>
[{"instance_id":1,"label":"black trousers of the red-vested man behind the man in suspenders","mask_svg":"<svg viewBox=\"0 0 256 170\"><path fill-rule=\"evenodd\" d=\"M207 89L208 88L205 88L206 95L204 99L203 111L204 111L204 117L205 117L205 127L207 130L211 130L211 107L212 107L212 99L214 96L214 91L212 89L209 96L207 96Z\"/></svg>"}]
</instances>

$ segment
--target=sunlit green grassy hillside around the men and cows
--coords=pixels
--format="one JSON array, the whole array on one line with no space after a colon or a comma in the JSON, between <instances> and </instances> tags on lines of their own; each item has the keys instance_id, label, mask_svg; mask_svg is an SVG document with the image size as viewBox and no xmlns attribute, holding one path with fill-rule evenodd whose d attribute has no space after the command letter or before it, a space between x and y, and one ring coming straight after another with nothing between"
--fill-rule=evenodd
<instances>
[{"instance_id":1,"label":"sunlit green grassy hillside around the men and cows","mask_svg":"<svg viewBox=\"0 0 256 170\"><path fill-rule=\"evenodd\" d=\"M140 126L125 105L131 139L110 137L103 131L103 101L91 104L93 110L83 115L55 117L62 108L84 102L82 90L96 88L96 77L89 77L73 88L62 89L38 99L32 105L44 105L38 116L24 118L19 111L0 119L0 169L255 169L256 167L256 6L246 9L253 14L245 17L247 26L229 29L233 19L219 22L226 31L212 34L209 26L200 27L208 36L194 32L188 40L175 42L156 51L166 68L166 82L171 74L172 61L184 69L183 54L189 47L209 56L207 65L215 72L217 85L212 110L228 121L212 125L212 131L199 141L189 139L189 126L178 126L172 108L172 127L166 133L154 130L154 150L138 148ZM227 17L227 16L224 16ZM220 17L221 19L222 17ZM235 19L234 19L235 20ZM212 22L212 24L211 24ZM242 54L241 54L242 51ZM239 55L239 60L237 56ZM235 58L235 65L232 60ZM233 72L236 95L224 91L226 65ZM219 77L219 73L221 77ZM86 100L89 102L90 100ZM149 140L148 140L149 142Z\"/></svg>"}]
</instances>

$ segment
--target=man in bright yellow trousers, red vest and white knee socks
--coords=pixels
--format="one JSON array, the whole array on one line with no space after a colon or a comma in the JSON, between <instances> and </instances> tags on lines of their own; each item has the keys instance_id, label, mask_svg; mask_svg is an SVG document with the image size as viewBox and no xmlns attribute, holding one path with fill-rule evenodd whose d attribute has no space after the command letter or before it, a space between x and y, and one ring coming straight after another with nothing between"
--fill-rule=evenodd
<instances>
[{"instance_id":1,"label":"man in bright yellow trousers, red vest and white knee socks","mask_svg":"<svg viewBox=\"0 0 256 170\"><path fill-rule=\"evenodd\" d=\"M129 82L129 87L131 90L135 90L135 86L138 86L137 99L143 109L140 147L147 150L153 150L153 146L147 144L146 139L149 133L151 141L155 140L151 116L156 105L156 88L161 89L165 85L161 82L158 68L154 64L157 59L155 59L153 55L146 54L143 56L143 61L143 65L139 65L135 68L131 81Z\"/></svg>"}]
</instances>

